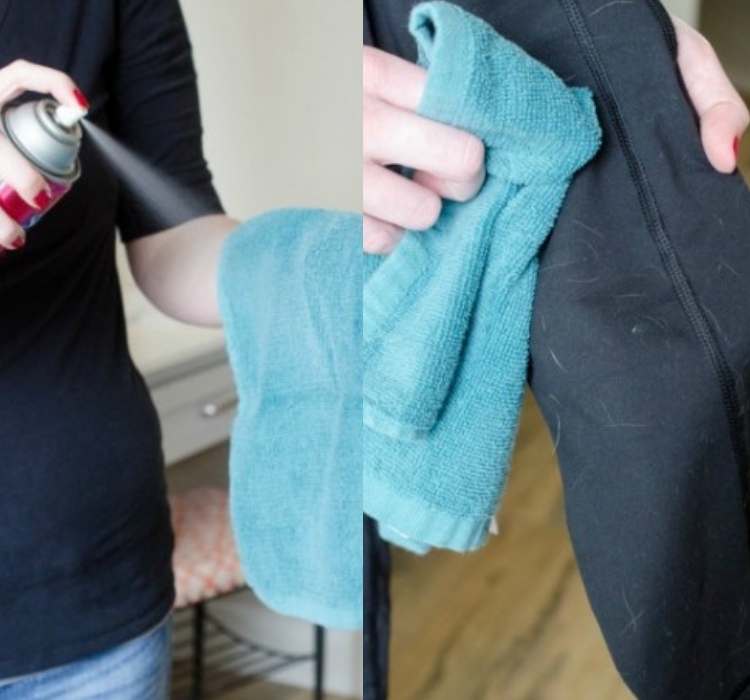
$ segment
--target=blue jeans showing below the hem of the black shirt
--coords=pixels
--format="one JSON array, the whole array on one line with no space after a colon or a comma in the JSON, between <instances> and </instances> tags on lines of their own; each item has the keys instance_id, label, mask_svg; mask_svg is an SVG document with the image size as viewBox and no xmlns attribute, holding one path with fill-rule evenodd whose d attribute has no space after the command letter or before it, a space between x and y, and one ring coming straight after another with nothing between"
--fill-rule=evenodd
<instances>
[{"instance_id":1,"label":"blue jeans showing below the hem of the black shirt","mask_svg":"<svg viewBox=\"0 0 750 700\"><path fill-rule=\"evenodd\" d=\"M171 641L170 616L114 649L0 685L0 700L167 700Z\"/></svg>"}]
</instances>

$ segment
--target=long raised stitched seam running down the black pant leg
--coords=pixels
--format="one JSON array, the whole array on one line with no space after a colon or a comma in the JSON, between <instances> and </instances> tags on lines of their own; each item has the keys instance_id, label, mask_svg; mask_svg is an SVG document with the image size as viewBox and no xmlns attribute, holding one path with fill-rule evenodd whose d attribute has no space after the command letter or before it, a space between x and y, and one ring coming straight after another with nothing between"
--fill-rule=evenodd
<instances>
[{"instance_id":1,"label":"long raised stitched seam running down the black pant leg","mask_svg":"<svg viewBox=\"0 0 750 700\"><path fill-rule=\"evenodd\" d=\"M633 142L625 125L625 120L620 110L614 90L604 64L597 52L593 42L591 31L585 23L577 0L560 0L563 10L568 17L573 33L580 45L586 63L599 88L599 97L603 101L617 138L623 149L628 171L633 184L636 187L638 201L651 234L662 264L669 275L672 287L687 316L693 331L698 337L712 369L719 381L725 415L729 427L729 436L732 452L738 469L740 485L742 488L742 504L745 515L746 534L750 537L750 523L747 512L748 476L747 476L747 450L742 437L742 428L739 423L739 400L734 386L734 375L727 359L719 346L713 329L708 322L706 313L700 306L696 294L690 285L690 281L680 264L677 252L670 240L661 212L656 202L656 196L649 183L645 167L636 154Z\"/></svg>"}]
</instances>

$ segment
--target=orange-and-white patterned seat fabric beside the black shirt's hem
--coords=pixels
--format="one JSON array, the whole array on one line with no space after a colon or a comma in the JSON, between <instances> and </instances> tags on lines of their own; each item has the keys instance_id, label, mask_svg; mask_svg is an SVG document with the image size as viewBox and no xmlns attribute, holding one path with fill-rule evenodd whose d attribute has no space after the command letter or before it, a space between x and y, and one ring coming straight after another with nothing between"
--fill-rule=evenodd
<instances>
[{"instance_id":1,"label":"orange-and-white patterned seat fabric beside the black shirt's hem","mask_svg":"<svg viewBox=\"0 0 750 700\"><path fill-rule=\"evenodd\" d=\"M229 522L228 496L200 487L170 496L175 550L176 608L229 593L245 585Z\"/></svg>"}]
</instances>

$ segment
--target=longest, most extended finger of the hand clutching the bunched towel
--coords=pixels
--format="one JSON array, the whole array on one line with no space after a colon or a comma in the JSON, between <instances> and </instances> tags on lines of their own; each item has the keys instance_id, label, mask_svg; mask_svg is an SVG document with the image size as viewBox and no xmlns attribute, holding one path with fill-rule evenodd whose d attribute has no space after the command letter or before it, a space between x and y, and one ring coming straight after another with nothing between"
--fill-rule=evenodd
<instances>
[{"instance_id":1,"label":"longest, most extended finger of the hand clutching the bunched towel","mask_svg":"<svg viewBox=\"0 0 750 700\"><path fill-rule=\"evenodd\" d=\"M363 143L365 158L456 182L475 183L484 167L484 144L473 134L379 100L365 101Z\"/></svg>"}]
</instances>

